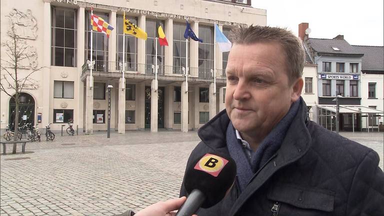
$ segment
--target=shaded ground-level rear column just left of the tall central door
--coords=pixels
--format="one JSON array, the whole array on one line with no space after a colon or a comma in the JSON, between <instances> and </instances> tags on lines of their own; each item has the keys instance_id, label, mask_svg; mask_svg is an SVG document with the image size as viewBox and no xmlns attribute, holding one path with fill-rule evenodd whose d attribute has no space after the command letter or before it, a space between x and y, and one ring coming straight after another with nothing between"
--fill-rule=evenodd
<instances>
[{"instance_id":1,"label":"shaded ground-level rear column just left of the tall central door","mask_svg":"<svg viewBox=\"0 0 384 216\"><path fill-rule=\"evenodd\" d=\"M135 117L136 125L139 130L145 127L145 82L136 84L136 101L135 101Z\"/></svg>"}]
</instances>

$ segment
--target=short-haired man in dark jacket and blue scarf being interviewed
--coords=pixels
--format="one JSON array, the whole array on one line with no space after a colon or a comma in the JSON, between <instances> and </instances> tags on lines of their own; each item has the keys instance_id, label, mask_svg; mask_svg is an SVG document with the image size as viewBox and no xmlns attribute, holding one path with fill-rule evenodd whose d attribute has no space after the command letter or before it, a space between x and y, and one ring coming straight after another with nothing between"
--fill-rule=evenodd
<instances>
[{"instance_id":1,"label":"short-haired man in dark jacket and blue scarf being interviewed","mask_svg":"<svg viewBox=\"0 0 384 216\"><path fill-rule=\"evenodd\" d=\"M237 176L223 200L197 215L384 215L377 153L308 120L300 40L251 25L234 29L232 42L225 110L198 130L187 166L221 152Z\"/></svg>"}]
</instances>

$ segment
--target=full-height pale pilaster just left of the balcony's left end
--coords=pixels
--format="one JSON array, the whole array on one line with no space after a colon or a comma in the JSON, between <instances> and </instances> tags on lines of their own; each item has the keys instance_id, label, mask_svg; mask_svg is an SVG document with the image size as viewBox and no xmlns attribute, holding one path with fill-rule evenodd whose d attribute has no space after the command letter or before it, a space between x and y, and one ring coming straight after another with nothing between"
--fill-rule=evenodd
<instances>
[{"instance_id":1,"label":"full-height pale pilaster just left of the balcony's left end","mask_svg":"<svg viewBox=\"0 0 384 216\"><path fill-rule=\"evenodd\" d=\"M82 131L84 127L83 116L84 116L84 82L80 80L80 76L82 73L82 65L84 64L84 22L85 22L85 7L79 6L77 10L77 92L78 96L77 100L77 111L75 117L75 124L77 124Z\"/></svg>"}]
</instances>

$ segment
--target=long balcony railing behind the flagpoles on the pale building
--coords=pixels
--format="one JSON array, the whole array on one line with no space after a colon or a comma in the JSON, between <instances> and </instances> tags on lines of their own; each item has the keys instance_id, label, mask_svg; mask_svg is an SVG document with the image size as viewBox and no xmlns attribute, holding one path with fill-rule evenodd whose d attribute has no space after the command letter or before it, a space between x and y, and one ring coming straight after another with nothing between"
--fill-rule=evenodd
<instances>
[{"instance_id":1,"label":"long balcony railing behind the flagpoles on the pale building","mask_svg":"<svg viewBox=\"0 0 384 216\"><path fill-rule=\"evenodd\" d=\"M173 75L173 76L185 76L185 67L183 66L172 66L172 65L157 65L157 75ZM82 65L82 73L89 70L87 63ZM126 73L142 73L142 74L154 74L153 64L142 64L142 63L124 63ZM122 62L119 61L102 61L95 60L92 71L93 72L121 72L123 70ZM225 70L216 69L216 78L226 78ZM94 73L96 74L96 73ZM189 77L211 79L213 78L213 68L199 68L189 67Z\"/></svg>"}]
</instances>

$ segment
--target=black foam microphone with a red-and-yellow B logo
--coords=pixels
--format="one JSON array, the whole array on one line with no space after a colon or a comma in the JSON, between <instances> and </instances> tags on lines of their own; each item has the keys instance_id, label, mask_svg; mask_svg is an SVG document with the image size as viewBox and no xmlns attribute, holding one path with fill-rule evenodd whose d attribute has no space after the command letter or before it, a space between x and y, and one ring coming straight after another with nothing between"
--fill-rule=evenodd
<instances>
[{"instance_id":1,"label":"black foam microphone with a red-and-yellow B logo","mask_svg":"<svg viewBox=\"0 0 384 216\"><path fill-rule=\"evenodd\" d=\"M236 177L236 163L230 157L206 153L187 167L184 187L189 194L176 216L190 216L199 207L208 208L224 198Z\"/></svg>"}]
</instances>

